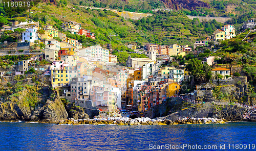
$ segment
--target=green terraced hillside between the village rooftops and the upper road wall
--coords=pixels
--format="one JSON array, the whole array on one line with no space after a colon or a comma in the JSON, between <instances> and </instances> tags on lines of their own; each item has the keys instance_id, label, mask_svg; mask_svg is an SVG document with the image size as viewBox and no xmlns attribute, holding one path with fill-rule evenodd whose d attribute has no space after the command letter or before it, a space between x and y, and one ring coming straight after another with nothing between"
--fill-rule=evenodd
<instances>
[{"instance_id":1,"label":"green terraced hillside between the village rooftops and the upper road wall","mask_svg":"<svg viewBox=\"0 0 256 151\"><path fill-rule=\"evenodd\" d=\"M144 43L193 44L197 39L206 37L222 26L216 21L200 23L197 19L188 19L183 11L157 11L153 16L140 20L126 20L119 15L107 10L91 10L89 8L71 7L69 5L58 7L39 4L31 9L32 19L44 24L61 25L62 21L73 20L80 22L82 28L89 29L96 35L96 42L101 45L109 43L109 34L112 37L113 48L135 42L137 45ZM51 15L49 15L51 14ZM67 15L69 14L69 15Z\"/></svg>"}]
</instances>

